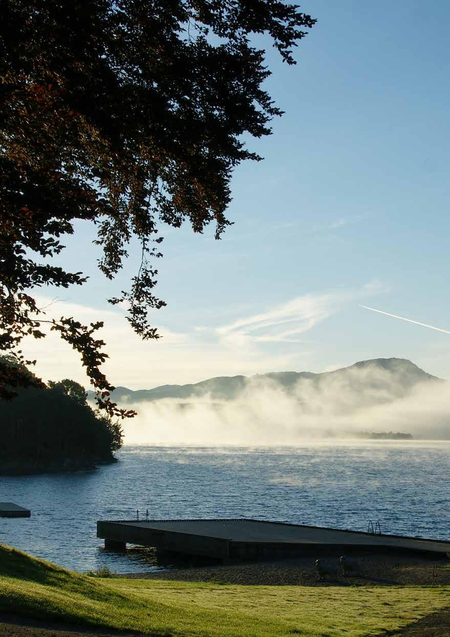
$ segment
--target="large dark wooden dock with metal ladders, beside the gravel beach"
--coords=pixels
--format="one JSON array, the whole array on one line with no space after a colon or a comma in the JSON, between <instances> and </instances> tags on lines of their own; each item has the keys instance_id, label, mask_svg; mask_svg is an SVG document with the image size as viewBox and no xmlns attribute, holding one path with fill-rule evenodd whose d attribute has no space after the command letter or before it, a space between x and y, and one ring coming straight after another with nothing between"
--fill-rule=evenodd
<instances>
[{"instance_id":1,"label":"large dark wooden dock with metal ladders, beside the gravel beach","mask_svg":"<svg viewBox=\"0 0 450 637\"><path fill-rule=\"evenodd\" d=\"M450 541L445 540L252 519L99 520L97 537L105 540L105 548L124 550L131 543L223 561L293 557L330 550L417 551L450 557Z\"/></svg>"}]
</instances>

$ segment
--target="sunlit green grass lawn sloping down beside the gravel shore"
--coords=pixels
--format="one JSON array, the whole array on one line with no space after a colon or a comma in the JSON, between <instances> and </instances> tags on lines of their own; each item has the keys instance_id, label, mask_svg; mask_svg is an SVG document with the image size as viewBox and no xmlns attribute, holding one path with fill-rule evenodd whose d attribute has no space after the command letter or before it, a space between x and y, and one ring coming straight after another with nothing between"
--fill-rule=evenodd
<instances>
[{"instance_id":1,"label":"sunlit green grass lawn sloping down beside the gravel shore","mask_svg":"<svg viewBox=\"0 0 450 637\"><path fill-rule=\"evenodd\" d=\"M449 592L102 579L0 545L0 612L161 636L363 637L444 608Z\"/></svg>"}]
</instances>

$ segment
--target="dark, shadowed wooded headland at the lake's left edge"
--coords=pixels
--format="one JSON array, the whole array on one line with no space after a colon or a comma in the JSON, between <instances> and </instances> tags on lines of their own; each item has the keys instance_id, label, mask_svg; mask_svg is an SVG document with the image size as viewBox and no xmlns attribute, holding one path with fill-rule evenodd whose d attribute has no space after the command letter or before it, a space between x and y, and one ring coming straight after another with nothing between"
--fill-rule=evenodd
<instances>
[{"instance_id":1,"label":"dark, shadowed wooded headland at the lake's left edge","mask_svg":"<svg viewBox=\"0 0 450 637\"><path fill-rule=\"evenodd\" d=\"M120 424L94 412L73 380L20 389L0 401L0 475L93 468L112 462Z\"/></svg>"}]
</instances>

